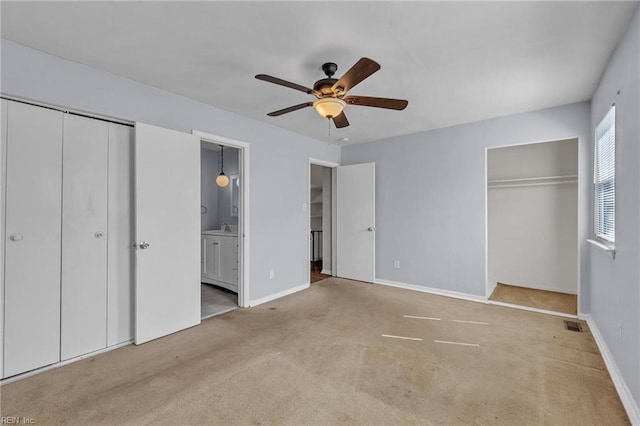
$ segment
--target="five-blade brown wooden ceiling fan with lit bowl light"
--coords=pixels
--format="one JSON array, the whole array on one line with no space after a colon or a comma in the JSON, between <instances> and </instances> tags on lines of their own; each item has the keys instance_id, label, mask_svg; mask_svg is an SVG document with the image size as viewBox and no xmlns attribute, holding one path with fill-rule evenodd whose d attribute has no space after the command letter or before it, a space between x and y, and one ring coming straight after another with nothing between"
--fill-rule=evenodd
<instances>
[{"instance_id":1,"label":"five-blade brown wooden ceiling fan with lit bowl light","mask_svg":"<svg viewBox=\"0 0 640 426\"><path fill-rule=\"evenodd\" d=\"M290 81L282 80L266 74L258 74L258 80L279 84L280 86L305 92L316 97L315 101L304 102L302 104L290 106L267 114L270 117L277 117L288 112L297 111L306 107L314 107L321 116L332 119L337 128L347 127L349 121L344 115L344 107L347 105L360 105L374 108L386 108L403 110L407 107L408 101L403 99L372 98L369 96L347 95L358 83L369 77L380 69L380 64L369 58L360 58L340 79L333 78L338 70L338 66L333 62L322 65L322 71L327 78L320 79L313 84L313 89L301 86Z\"/></svg>"}]
</instances>

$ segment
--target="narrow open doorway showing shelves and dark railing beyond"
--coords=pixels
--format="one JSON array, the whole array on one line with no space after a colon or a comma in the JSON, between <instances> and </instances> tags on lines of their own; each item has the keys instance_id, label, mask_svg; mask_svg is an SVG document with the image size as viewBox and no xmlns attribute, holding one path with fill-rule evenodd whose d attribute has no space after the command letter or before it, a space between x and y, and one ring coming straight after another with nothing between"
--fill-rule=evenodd
<instances>
[{"instance_id":1,"label":"narrow open doorway showing shelves and dark railing beyond","mask_svg":"<svg viewBox=\"0 0 640 426\"><path fill-rule=\"evenodd\" d=\"M309 161L309 283L332 276L333 265L333 167L337 164Z\"/></svg>"}]
</instances>

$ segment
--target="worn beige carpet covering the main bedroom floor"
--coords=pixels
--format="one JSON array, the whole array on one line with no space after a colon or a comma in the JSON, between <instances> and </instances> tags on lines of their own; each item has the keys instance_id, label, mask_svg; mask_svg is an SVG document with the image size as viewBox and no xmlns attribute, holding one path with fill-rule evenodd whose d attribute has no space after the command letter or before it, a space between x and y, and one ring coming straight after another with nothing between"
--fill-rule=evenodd
<instances>
[{"instance_id":1,"label":"worn beige carpet covering the main bedroom floor","mask_svg":"<svg viewBox=\"0 0 640 426\"><path fill-rule=\"evenodd\" d=\"M628 424L583 326L330 278L4 385L2 416L40 425Z\"/></svg>"}]
</instances>

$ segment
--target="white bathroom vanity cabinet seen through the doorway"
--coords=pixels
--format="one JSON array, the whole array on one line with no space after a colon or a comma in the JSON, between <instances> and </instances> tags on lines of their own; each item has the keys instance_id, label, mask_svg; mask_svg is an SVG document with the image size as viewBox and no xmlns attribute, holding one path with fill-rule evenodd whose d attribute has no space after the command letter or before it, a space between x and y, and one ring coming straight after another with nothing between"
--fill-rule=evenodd
<instances>
[{"instance_id":1,"label":"white bathroom vanity cabinet seen through the doorway","mask_svg":"<svg viewBox=\"0 0 640 426\"><path fill-rule=\"evenodd\" d=\"M205 231L201 236L201 281L238 292L238 237Z\"/></svg>"}]
</instances>

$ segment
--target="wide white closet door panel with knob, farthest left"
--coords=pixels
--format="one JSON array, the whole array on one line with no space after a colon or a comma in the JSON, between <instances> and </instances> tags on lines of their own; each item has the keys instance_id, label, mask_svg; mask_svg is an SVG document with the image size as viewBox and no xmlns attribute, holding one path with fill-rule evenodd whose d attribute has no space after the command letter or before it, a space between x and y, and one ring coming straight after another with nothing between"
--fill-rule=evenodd
<instances>
[{"instance_id":1,"label":"wide white closet door panel with knob, farthest left","mask_svg":"<svg viewBox=\"0 0 640 426\"><path fill-rule=\"evenodd\" d=\"M62 113L9 102L4 377L60 360Z\"/></svg>"}]
</instances>

